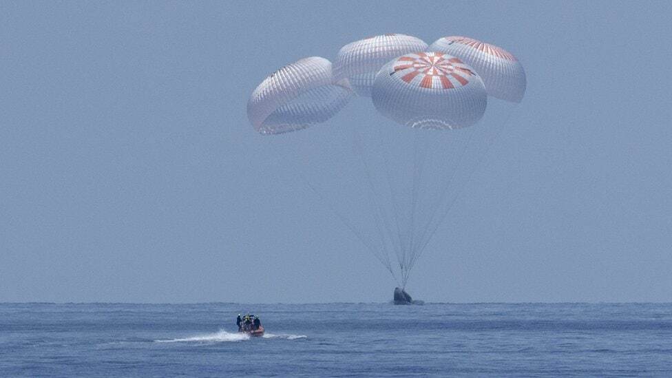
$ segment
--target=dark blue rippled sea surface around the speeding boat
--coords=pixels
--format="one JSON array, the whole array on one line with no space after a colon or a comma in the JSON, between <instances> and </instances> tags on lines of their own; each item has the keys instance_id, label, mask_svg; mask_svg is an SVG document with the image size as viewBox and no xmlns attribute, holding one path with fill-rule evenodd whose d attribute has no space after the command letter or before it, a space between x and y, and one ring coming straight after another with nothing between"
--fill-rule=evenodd
<instances>
[{"instance_id":1,"label":"dark blue rippled sea surface around the speeding boat","mask_svg":"<svg viewBox=\"0 0 672 378\"><path fill-rule=\"evenodd\" d=\"M2 377L178 375L672 377L672 304L0 304Z\"/></svg>"}]
</instances>

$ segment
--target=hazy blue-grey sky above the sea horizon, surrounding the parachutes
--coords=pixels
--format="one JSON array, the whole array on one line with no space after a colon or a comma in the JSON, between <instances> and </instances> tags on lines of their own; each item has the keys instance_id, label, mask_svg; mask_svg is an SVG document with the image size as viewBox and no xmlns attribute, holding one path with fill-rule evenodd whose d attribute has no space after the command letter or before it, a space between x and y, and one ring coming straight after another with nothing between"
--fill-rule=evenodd
<instances>
[{"instance_id":1,"label":"hazy blue-grey sky above the sea horizon, surrounding the parachutes","mask_svg":"<svg viewBox=\"0 0 672 378\"><path fill-rule=\"evenodd\" d=\"M0 302L391 300L246 116L278 67L390 32L472 36L527 74L411 295L672 302L671 17L663 1L1 1ZM321 127L377 117L353 101Z\"/></svg>"}]
</instances>

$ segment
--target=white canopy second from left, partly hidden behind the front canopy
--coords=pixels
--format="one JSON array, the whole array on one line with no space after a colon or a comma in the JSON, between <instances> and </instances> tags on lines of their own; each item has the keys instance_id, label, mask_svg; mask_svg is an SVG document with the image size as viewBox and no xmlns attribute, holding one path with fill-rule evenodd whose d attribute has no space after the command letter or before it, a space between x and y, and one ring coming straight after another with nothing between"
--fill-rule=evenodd
<instances>
[{"instance_id":1,"label":"white canopy second from left, partly hidden behind the front canopy","mask_svg":"<svg viewBox=\"0 0 672 378\"><path fill-rule=\"evenodd\" d=\"M371 96L375 76L385 63L410 52L427 49L427 43L405 34L383 34L348 43L334 61L334 76L347 78L360 96Z\"/></svg>"}]
</instances>

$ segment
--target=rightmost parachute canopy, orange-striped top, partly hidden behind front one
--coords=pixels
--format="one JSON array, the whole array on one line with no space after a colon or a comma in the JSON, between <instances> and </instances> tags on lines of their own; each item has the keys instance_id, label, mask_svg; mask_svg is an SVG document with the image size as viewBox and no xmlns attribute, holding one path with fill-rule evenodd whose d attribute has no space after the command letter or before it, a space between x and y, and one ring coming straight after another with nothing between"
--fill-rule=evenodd
<instances>
[{"instance_id":1,"label":"rightmost parachute canopy, orange-striped top, partly hidden behind front one","mask_svg":"<svg viewBox=\"0 0 672 378\"><path fill-rule=\"evenodd\" d=\"M525 70L516 57L503 48L466 36L445 36L430 51L457 56L481 75L490 96L520 103L525 95Z\"/></svg>"}]
</instances>

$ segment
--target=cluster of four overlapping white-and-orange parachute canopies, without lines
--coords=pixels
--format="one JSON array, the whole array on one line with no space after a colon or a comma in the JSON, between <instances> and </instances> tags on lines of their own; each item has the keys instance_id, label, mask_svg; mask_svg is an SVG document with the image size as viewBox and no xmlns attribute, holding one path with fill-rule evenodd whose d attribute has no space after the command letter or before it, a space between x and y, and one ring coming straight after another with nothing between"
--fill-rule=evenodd
<instances>
[{"instance_id":1,"label":"cluster of four overlapping white-and-orange parachute canopies, without lines","mask_svg":"<svg viewBox=\"0 0 672 378\"><path fill-rule=\"evenodd\" d=\"M525 71L503 48L465 36L432 45L405 34L348 43L334 63L300 59L264 79L247 113L261 134L282 134L333 117L355 94L410 127L457 129L478 122L487 96L519 103Z\"/></svg>"}]
</instances>

